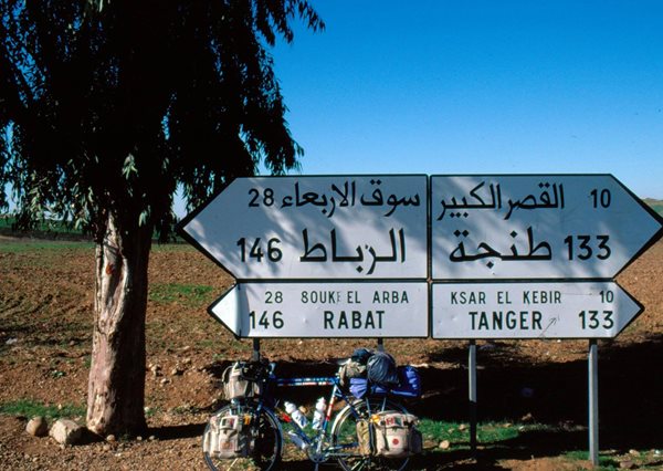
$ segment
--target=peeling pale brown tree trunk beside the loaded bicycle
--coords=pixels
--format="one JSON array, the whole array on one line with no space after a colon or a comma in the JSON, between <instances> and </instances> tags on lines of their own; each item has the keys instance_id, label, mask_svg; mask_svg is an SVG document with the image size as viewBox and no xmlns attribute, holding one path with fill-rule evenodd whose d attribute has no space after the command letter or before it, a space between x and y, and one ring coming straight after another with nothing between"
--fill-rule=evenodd
<instances>
[{"instance_id":1,"label":"peeling pale brown tree trunk beside the loaded bicycle","mask_svg":"<svg viewBox=\"0 0 663 471\"><path fill-rule=\"evenodd\" d=\"M145 314L151 230L107 218L96 248L87 428L106 436L146 428Z\"/></svg>"}]
</instances>

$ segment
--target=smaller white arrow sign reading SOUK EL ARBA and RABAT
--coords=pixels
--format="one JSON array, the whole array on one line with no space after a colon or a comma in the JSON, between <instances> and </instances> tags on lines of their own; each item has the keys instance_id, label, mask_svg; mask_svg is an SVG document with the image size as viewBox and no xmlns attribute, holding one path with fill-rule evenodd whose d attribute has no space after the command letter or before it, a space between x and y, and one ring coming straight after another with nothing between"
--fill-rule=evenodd
<instances>
[{"instance_id":1,"label":"smaller white arrow sign reading SOUK EL ARBA and RABAT","mask_svg":"<svg viewBox=\"0 0 663 471\"><path fill-rule=\"evenodd\" d=\"M428 337L428 285L239 283L209 307L238 337Z\"/></svg>"}]
</instances>

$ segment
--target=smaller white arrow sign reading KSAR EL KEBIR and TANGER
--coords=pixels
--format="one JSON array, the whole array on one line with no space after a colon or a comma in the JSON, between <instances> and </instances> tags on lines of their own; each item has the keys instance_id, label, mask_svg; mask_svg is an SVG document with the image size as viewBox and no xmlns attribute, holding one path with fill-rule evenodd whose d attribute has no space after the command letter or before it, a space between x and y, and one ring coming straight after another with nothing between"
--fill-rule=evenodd
<instances>
[{"instance_id":1,"label":"smaller white arrow sign reading KSAR EL KEBIR and TANGER","mask_svg":"<svg viewBox=\"0 0 663 471\"><path fill-rule=\"evenodd\" d=\"M435 283L433 338L612 338L642 312L614 282Z\"/></svg>"}]
</instances>

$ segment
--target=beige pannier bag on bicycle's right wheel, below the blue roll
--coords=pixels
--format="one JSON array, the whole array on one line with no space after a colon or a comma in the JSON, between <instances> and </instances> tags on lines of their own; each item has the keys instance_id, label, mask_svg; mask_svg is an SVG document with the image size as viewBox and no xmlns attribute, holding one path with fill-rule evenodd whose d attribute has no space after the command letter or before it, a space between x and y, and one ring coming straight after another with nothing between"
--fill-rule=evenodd
<instances>
[{"instance_id":1,"label":"beige pannier bag on bicycle's right wheel, below the blue roll","mask_svg":"<svg viewBox=\"0 0 663 471\"><path fill-rule=\"evenodd\" d=\"M375 422L377 456L404 458L421 453L422 437L417 430L417 416L394 410L386 410L376 416L371 421Z\"/></svg>"}]
</instances>

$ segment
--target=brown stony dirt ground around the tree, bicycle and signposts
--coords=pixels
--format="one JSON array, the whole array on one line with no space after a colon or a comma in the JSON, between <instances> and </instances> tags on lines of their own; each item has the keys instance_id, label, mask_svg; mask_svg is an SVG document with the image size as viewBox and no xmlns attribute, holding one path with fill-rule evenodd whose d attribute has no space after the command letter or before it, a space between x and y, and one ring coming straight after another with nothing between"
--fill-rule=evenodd
<instances>
[{"instance_id":1,"label":"brown stony dirt ground around the tree, bicycle and signposts","mask_svg":"<svg viewBox=\"0 0 663 471\"><path fill-rule=\"evenodd\" d=\"M0 236L0 405L29 399L84 410L92 345L94 249ZM30 249L32 247L32 249ZM25 250L29 249L29 250ZM618 282L645 312L619 337L599 342L600 449L622 467L663 469L663 242L632 263ZM0 415L0 469L203 470L200 439L220 404L219 379L233 359L251 355L206 308L232 279L188 245L156 247L147 313L146 416L143 437L90 439L60 447L24 429L28 418ZM182 292L177 286L209 286ZM175 294L173 294L175 293ZM428 452L415 469L575 470L561 457L588 449L587 341L478 342L478 418L545 423L498 446L466 443ZM332 374L335 359L375 341L262 341L278 371ZM399 364L420 366L425 394L410 409L422 417L467 422L467 343L385 341ZM311 404L313 388L298 398ZM301 402L301 404L302 404ZM84 423L84 417L72 417ZM427 443L435 448L438 443ZM312 469L290 460L285 469ZM329 468L333 469L333 468ZM634 469L634 468L631 468Z\"/></svg>"}]
</instances>

